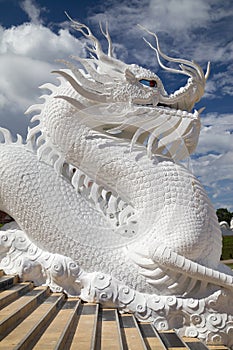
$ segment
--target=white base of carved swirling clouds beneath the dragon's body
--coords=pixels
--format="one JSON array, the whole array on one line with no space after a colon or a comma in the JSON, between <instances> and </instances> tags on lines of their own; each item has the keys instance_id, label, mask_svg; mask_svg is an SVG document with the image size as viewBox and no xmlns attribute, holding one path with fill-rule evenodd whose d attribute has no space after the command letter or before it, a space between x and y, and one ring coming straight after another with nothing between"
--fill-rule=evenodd
<instances>
[{"instance_id":1,"label":"white base of carved swirling clouds beneath the dragon's body","mask_svg":"<svg viewBox=\"0 0 233 350\"><path fill-rule=\"evenodd\" d=\"M158 330L176 329L180 336L225 344L233 349L233 292L219 287L205 298L139 293L101 272L86 273L66 256L38 248L15 223L0 231L0 268L23 281L84 301L114 305L150 321Z\"/></svg>"}]
</instances>

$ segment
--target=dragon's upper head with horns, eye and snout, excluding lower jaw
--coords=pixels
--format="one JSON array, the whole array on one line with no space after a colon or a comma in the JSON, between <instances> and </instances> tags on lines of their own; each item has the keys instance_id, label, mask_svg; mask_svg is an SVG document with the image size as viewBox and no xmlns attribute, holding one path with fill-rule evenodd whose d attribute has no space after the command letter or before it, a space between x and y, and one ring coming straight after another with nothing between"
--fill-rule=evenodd
<instances>
[{"instance_id":1,"label":"dragon's upper head with horns, eye and snout, excluding lower jaw","mask_svg":"<svg viewBox=\"0 0 233 350\"><path fill-rule=\"evenodd\" d=\"M144 38L146 43L156 52L159 65L168 72L183 74L188 77L184 87L168 95L161 79L155 73L136 64L126 64L113 57L112 42L107 27L104 32L100 24L102 34L108 40L108 54L105 54L99 40L86 25L72 19L71 21L72 26L93 43L93 47L87 47L91 53L89 60L73 57L81 62L92 80L90 82L86 81L85 84L81 82L82 91L81 89L79 91L81 95L82 92L85 95L86 90L87 98L89 98L91 95L88 92L92 90L97 92L96 97L92 95L92 99L97 102L130 101L136 105L167 106L186 111L191 111L195 103L203 96L210 72L209 62L206 74L204 74L202 68L193 61L165 55L160 49L157 35L141 27L156 39L156 47L154 47ZM165 66L160 57L179 64L180 69ZM71 64L69 64L69 67L72 71L75 70ZM93 81L96 83L95 86Z\"/></svg>"}]
</instances>

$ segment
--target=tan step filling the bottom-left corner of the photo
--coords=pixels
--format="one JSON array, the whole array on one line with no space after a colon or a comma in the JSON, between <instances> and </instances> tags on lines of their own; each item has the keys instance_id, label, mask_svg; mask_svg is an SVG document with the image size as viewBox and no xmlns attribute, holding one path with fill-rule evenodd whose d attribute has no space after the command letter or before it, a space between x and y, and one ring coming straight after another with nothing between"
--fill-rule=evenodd
<instances>
[{"instance_id":1,"label":"tan step filling the bottom-left corner of the photo","mask_svg":"<svg viewBox=\"0 0 233 350\"><path fill-rule=\"evenodd\" d=\"M42 304L0 342L0 349L31 349L44 328L53 318L64 298L64 294L61 293L53 293L51 296L48 296Z\"/></svg>"}]
</instances>

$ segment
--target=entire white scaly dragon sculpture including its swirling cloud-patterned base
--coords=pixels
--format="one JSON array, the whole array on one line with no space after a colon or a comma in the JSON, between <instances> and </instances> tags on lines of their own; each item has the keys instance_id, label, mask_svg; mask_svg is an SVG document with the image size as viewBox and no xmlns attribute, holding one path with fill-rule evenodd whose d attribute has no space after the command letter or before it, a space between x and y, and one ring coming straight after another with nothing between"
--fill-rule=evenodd
<instances>
[{"instance_id":1,"label":"entire white scaly dragon sculpture including its swirling cloud-patterned base","mask_svg":"<svg viewBox=\"0 0 233 350\"><path fill-rule=\"evenodd\" d=\"M114 304L157 329L233 347L233 273L202 185L182 161L195 150L206 74L165 55L188 76L167 94L159 77L108 54L84 24L90 58L73 57L33 105L27 142L1 129L0 267L83 300ZM179 69L161 62L173 62Z\"/></svg>"}]
</instances>

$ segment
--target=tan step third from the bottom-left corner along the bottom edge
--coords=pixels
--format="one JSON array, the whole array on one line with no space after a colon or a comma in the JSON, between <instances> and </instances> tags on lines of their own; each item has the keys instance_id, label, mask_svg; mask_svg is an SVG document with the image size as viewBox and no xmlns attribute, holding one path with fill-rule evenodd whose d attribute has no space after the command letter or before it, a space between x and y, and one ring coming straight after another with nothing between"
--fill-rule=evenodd
<instances>
[{"instance_id":1,"label":"tan step third from the bottom-left corner along the bottom edge","mask_svg":"<svg viewBox=\"0 0 233 350\"><path fill-rule=\"evenodd\" d=\"M78 309L78 324L75 330L70 350L94 349L96 343L98 304L82 304Z\"/></svg>"}]
</instances>

